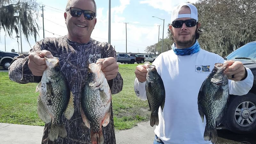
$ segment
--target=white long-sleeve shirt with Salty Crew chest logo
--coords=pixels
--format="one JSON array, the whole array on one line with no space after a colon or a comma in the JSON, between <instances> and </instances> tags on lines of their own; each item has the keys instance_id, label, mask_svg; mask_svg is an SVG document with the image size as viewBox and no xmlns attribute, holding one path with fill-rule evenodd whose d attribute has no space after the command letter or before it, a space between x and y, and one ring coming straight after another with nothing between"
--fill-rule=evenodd
<instances>
[{"instance_id":1,"label":"white long-sleeve shirt with Salty Crew chest logo","mask_svg":"<svg viewBox=\"0 0 256 144\"><path fill-rule=\"evenodd\" d=\"M176 55L173 50L160 54L152 65L162 77L165 88L163 112L158 110L159 124L155 134L165 144L211 144L204 140L204 123L198 113L197 97L205 78L215 63L225 60L217 54L200 49L191 55ZM253 84L249 68L243 81L229 80L229 94L244 95ZM147 100L145 82L136 78L134 91L141 100Z\"/></svg>"}]
</instances>

